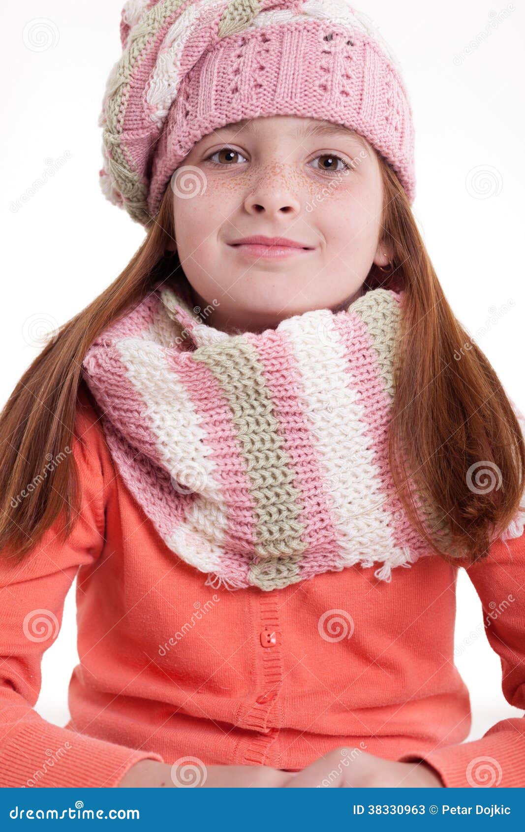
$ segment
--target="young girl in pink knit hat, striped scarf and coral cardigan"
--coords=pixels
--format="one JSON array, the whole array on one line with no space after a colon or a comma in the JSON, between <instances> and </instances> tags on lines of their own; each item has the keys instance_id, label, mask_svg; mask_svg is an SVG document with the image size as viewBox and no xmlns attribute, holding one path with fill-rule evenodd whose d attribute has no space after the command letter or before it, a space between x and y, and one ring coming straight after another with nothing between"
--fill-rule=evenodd
<instances>
[{"instance_id":1,"label":"young girl in pink knit hat, striped scarf and coral cardigan","mask_svg":"<svg viewBox=\"0 0 525 832\"><path fill-rule=\"evenodd\" d=\"M461 567L523 707L523 417L417 230L399 65L344 0L134 0L121 42L146 240L0 421L1 785L525 786L453 663Z\"/></svg>"}]
</instances>

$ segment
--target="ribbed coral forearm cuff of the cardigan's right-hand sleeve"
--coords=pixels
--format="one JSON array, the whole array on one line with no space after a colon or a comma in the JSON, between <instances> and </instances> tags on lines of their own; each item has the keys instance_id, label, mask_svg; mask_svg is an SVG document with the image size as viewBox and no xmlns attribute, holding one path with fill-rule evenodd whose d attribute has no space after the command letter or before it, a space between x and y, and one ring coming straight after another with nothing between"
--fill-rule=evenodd
<instances>
[{"instance_id":1,"label":"ribbed coral forearm cuff of the cardigan's right-hand sleeve","mask_svg":"<svg viewBox=\"0 0 525 832\"><path fill-rule=\"evenodd\" d=\"M424 754L404 754L397 761L421 760L432 766L448 789L525 787L525 739L514 729Z\"/></svg>"}]
</instances>

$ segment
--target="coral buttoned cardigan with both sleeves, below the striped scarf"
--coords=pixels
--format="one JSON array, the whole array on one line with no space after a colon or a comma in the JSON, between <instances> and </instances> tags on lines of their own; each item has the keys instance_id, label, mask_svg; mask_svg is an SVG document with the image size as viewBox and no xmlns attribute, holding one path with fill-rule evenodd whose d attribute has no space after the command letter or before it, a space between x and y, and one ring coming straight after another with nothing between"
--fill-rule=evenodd
<instances>
[{"instance_id":1,"label":"coral buttoned cardigan with both sleeves, below the striped scarf","mask_svg":"<svg viewBox=\"0 0 525 832\"><path fill-rule=\"evenodd\" d=\"M61 518L22 564L0 559L1 786L115 786L137 760L184 755L300 770L341 745L424 758L446 786L476 785L483 758L493 785L525 786L523 719L462 744L471 715L453 662L457 568L430 556L391 583L347 567L271 592L206 587L121 481L95 408L81 386L71 536ZM523 537L468 569L503 693L520 708ZM80 664L61 727L34 706L76 576Z\"/></svg>"}]
</instances>

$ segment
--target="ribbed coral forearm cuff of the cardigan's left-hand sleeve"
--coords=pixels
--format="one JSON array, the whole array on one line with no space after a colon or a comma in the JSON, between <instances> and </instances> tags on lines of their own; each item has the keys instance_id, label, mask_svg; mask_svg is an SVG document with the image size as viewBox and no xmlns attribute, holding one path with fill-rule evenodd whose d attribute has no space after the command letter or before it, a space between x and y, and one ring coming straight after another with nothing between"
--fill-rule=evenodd
<instances>
[{"instance_id":1,"label":"ribbed coral forearm cuff of the cardigan's left-hand sleeve","mask_svg":"<svg viewBox=\"0 0 525 832\"><path fill-rule=\"evenodd\" d=\"M154 751L126 748L36 721L6 738L0 753L2 788L112 788L139 760L158 760Z\"/></svg>"}]
</instances>

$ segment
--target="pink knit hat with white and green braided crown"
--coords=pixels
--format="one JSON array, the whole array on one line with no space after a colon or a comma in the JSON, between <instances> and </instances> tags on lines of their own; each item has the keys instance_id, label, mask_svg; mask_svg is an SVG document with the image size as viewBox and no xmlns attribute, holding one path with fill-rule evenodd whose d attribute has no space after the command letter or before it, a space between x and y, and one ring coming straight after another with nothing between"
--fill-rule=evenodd
<instances>
[{"instance_id":1,"label":"pink knit hat with white and green braided crown","mask_svg":"<svg viewBox=\"0 0 525 832\"><path fill-rule=\"evenodd\" d=\"M400 67L346 0L128 0L106 85L106 197L150 225L173 171L233 121L305 116L364 136L414 201L414 126Z\"/></svg>"}]
</instances>

